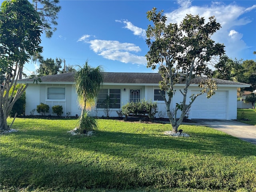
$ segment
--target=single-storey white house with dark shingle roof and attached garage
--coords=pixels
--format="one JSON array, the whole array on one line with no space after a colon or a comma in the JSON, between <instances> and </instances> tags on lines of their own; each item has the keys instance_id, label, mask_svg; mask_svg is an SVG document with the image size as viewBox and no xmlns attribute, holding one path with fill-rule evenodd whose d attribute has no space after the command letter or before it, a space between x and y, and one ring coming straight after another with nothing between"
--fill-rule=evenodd
<instances>
[{"instance_id":1,"label":"single-storey white house with dark shingle roof and attached garage","mask_svg":"<svg viewBox=\"0 0 256 192\"><path fill-rule=\"evenodd\" d=\"M22 79L19 83L28 83L26 89L26 115L36 108L40 103L48 104L51 108L54 105L62 105L65 116L70 113L72 116L80 115L80 107L77 103L77 94L74 88L74 72L57 74L41 77L42 82L33 84L33 79ZM98 104L91 110L92 116L105 116L102 102L106 96L110 96L110 116L118 116L117 110L122 105L131 101L140 101L142 99L157 102L158 112L166 114L166 107L163 98L159 93L159 81L162 77L158 73L121 73L104 72L104 82L98 95ZM197 77L190 84L188 97L200 91L198 83L201 78ZM189 112L188 118L195 119L236 119L238 87L248 87L250 85L227 80L215 79L218 84L218 90L212 98L207 99L203 94L198 96ZM182 101L182 94L178 91L184 88L184 82L176 84L177 90L171 103L171 109L175 108L176 103ZM187 99L188 102L190 98ZM35 112L36 115L36 112ZM39 115L39 114L38 114ZM158 117L158 113L156 114ZM167 117L167 116L166 116Z\"/></svg>"}]
</instances>

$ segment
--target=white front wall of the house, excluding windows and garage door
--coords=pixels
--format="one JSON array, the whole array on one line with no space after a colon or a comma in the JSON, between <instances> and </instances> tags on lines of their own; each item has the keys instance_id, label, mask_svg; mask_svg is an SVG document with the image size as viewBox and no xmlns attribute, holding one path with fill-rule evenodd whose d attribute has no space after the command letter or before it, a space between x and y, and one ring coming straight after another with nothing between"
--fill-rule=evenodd
<instances>
[{"instance_id":1,"label":"white front wall of the house, excluding windows and garage door","mask_svg":"<svg viewBox=\"0 0 256 192\"><path fill-rule=\"evenodd\" d=\"M47 99L47 88L48 87L65 87L66 88L66 96L65 100L48 100ZM102 88L118 88L121 90L121 106L129 102L129 94L130 89L140 89L140 98L146 99L146 100L152 100L154 102L154 89L159 89L158 86L142 86L142 85L103 85ZM124 91L125 89L125 91ZM180 93L179 89L183 89L182 86L177 86L175 88L176 93L172 99L172 103L170 106L170 109L175 108L176 103L182 102L183 96ZM190 101L190 95L192 91L198 90L198 86L190 86L188 89L188 98L187 103ZM227 102L226 102L226 119L236 119L236 108L237 108L237 101L236 101L236 87L224 87L219 86L218 91L226 91L227 96ZM78 116L81 114L80 106L77 102L77 94L74 86L72 84L29 84L27 90L26 90L26 115L30 115L30 112L33 109L36 109L36 106L40 103L45 103L50 106L50 113L52 114L52 106L54 105L62 105L63 106L63 116L66 116L66 113L70 112L71 116L75 116L78 114ZM162 112L162 114L165 114L165 117L167 118L166 114L166 105L164 101L157 101L158 104L158 112ZM116 110L111 110L110 116L118 116L116 113ZM104 113L104 109L98 109L98 110L91 110L92 116L106 116ZM34 115L40 115L36 111L34 112ZM180 115L180 111L178 111L178 116ZM156 114L156 117L159 117L159 114ZM189 117L190 118L190 117Z\"/></svg>"}]
</instances>

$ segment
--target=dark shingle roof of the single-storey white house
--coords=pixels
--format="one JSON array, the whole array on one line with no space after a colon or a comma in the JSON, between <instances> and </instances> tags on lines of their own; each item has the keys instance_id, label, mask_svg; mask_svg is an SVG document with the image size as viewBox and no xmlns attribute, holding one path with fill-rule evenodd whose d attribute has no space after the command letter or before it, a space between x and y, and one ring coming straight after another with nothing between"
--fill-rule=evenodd
<instances>
[{"instance_id":1,"label":"dark shingle roof of the single-storey white house","mask_svg":"<svg viewBox=\"0 0 256 192\"><path fill-rule=\"evenodd\" d=\"M42 76L40 79L42 83L46 82L64 82L64 83L73 83L74 74L64 73L56 74L49 76ZM124 73L124 72L104 72L104 83L106 84L158 84L162 80L162 77L159 73ZM196 77L192 80L191 84L199 84L201 82L201 77ZM228 80L214 79L219 85L234 85L234 86L250 86L245 83L239 83ZM19 80L20 83L29 83L33 82L34 79L22 79ZM180 84L184 84L183 78L180 78Z\"/></svg>"}]
</instances>

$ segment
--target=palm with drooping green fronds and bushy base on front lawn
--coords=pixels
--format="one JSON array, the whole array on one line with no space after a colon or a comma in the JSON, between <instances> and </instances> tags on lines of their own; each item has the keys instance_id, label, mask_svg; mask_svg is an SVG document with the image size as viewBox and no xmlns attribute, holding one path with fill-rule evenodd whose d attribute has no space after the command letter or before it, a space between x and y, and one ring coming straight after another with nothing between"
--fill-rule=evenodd
<instances>
[{"instance_id":1,"label":"palm with drooping green fronds and bushy base on front lawn","mask_svg":"<svg viewBox=\"0 0 256 192\"><path fill-rule=\"evenodd\" d=\"M78 130L86 132L90 129L96 128L96 121L88 116L86 110L90 108L98 95L100 86L103 82L103 69L101 66L92 68L88 65L88 61L84 66L75 73L74 80L76 92L78 95L78 102L82 107L82 112L79 120Z\"/></svg>"}]
</instances>

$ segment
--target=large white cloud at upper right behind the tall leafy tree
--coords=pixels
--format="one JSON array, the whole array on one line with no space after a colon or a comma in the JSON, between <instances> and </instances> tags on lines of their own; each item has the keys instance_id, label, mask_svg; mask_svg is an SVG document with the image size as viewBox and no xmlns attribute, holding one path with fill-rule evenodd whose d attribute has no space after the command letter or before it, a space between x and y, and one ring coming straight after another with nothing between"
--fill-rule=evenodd
<instances>
[{"instance_id":1,"label":"large white cloud at upper right behind the tall leafy tree","mask_svg":"<svg viewBox=\"0 0 256 192\"><path fill-rule=\"evenodd\" d=\"M173 12L165 13L168 23L178 23L183 20L186 14L199 15L204 17L206 22L210 16L215 16L216 21L222 26L213 36L215 42L224 43L226 54L232 58L238 58L242 50L248 48L242 40L243 34L233 31L234 26L246 25L252 20L242 17L244 13L256 8L256 5L249 8L238 6L235 2L224 4L222 2L212 2L210 6L192 6L190 0L178 0L179 8Z\"/></svg>"}]
</instances>

